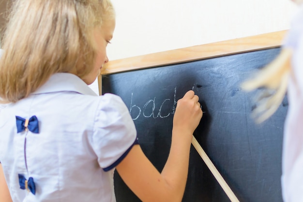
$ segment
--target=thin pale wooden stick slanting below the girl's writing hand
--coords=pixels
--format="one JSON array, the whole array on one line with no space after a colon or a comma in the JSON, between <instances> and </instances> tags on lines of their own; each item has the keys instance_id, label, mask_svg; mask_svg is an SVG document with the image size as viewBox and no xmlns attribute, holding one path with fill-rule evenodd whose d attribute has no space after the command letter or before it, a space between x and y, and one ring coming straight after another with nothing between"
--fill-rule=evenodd
<instances>
[{"instance_id":1,"label":"thin pale wooden stick slanting below the girl's writing hand","mask_svg":"<svg viewBox=\"0 0 303 202\"><path fill-rule=\"evenodd\" d=\"M230 189L230 187L227 185L227 183L225 182L225 180L223 179L223 177L221 176L221 174L219 173L219 171L213 165L211 159L204 152L204 150L202 149L202 147L200 146L200 144L198 143L198 141L196 140L196 138L194 136L193 136L192 144L195 147L195 149L197 150L198 154L203 159L203 161L205 162L205 164L207 165L207 167L209 168L209 170L211 170L213 176L216 178L216 180L218 181L218 183L220 184L220 186L223 188L223 190L227 194L227 196L230 199L230 201L231 202L239 202L239 200L236 197L236 195L234 194L234 192L232 192L232 190Z\"/></svg>"}]
</instances>

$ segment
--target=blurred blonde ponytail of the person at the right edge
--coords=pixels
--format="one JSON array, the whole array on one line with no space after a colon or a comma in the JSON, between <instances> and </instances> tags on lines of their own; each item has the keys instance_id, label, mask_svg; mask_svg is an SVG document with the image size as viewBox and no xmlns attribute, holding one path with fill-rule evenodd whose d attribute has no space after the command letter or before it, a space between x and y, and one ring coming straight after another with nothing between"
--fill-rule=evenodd
<instances>
[{"instance_id":1,"label":"blurred blonde ponytail of the person at the right edge","mask_svg":"<svg viewBox=\"0 0 303 202\"><path fill-rule=\"evenodd\" d=\"M283 48L278 57L260 70L255 78L242 84L245 91L265 88L258 96L257 108L253 110L253 116L258 123L271 117L283 101L288 86L291 56L292 50Z\"/></svg>"}]
</instances>

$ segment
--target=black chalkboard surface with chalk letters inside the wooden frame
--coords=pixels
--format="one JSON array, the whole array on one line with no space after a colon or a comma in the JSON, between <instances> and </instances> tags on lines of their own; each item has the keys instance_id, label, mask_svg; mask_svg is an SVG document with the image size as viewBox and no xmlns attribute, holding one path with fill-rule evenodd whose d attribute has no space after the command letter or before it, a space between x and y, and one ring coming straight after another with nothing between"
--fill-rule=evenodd
<instances>
[{"instance_id":1,"label":"black chalkboard surface with chalk letters inside the wooden frame","mask_svg":"<svg viewBox=\"0 0 303 202\"><path fill-rule=\"evenodd\" d=\"M256 92L240 84L271 62L280 48L105 75L102 92L121 96L145 155L161 171L171 143L173 114L188 90L204 111L194 135L240 202L282 202L281 153L288 102L262 124L251 117ZM259 90L258 90L259 91ZM140 200L115 173L117 202ZM229 202L195 148L182 202Z\"/></svg>"}]
</instances>

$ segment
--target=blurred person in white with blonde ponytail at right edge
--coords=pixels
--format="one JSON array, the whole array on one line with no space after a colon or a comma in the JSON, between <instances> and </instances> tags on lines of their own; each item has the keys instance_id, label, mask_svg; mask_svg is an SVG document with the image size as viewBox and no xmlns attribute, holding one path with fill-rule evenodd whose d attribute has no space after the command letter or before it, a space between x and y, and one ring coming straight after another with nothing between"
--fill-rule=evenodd
<instances>
[{"instance_id":1,"label":"blurred person in white with blonde ponytail at right edge","mask_svg":"<svg viewBox=\"0 0 303 202\"><path fill-rule=\"evenodd\" d=\"M302 0L295 1L302 4ZM280 55L257 78L243 84L243 89L269 89L255 111L258 121L269 118L279 107L288 89L288 114L284 127L282 154L282 194L285 202L303 199L303 6L291 24ZM272 93L274 92L274 93Z\"/></svg>"}]
</instances>

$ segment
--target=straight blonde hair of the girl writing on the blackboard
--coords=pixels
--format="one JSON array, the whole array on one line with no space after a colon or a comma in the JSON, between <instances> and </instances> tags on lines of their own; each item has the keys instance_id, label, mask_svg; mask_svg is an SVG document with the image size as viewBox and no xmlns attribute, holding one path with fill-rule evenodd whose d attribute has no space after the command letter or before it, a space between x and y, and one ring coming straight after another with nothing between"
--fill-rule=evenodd
<instances>
[{"instance_id":1,"label":"straight blonde hair of the girl writing on the blackboard","mask_svg":"<svg viewBox=\"0 0 303 202\"><path fill-rule=\"evenodd\" d=\"M114 16L110 0L15 0L2 40L2 102L29 96L55 73L87 75L96 55L92 31Z\"/></svg>"}]
</instances>

